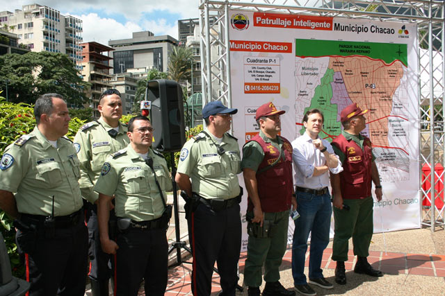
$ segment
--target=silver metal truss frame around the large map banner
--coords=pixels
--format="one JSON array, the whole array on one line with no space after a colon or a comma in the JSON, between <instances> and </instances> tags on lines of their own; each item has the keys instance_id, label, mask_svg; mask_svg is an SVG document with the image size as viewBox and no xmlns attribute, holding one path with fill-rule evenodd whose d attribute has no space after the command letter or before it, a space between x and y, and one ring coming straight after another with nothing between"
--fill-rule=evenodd
<instances>
[{"instance_id":1,"label":"silver metal truss frame around the large map banner","mask_svg":"<svg viewBox=\"0 0 445 296\"><path fill-rule=\"evenodd\" d=\"M200 0L203 105L232 105L229 10L282 12L381 21L409 21L418 26L419 44L419 201L421 225L445 227L445 3L440 0ZM212 20L212 21L210 21ZM423 49L421 50L420 47ZM436 75L433 75L435 73ZM441 75L437 75L441 73ZM423 130L422 130L423 128ZM430 186L434 184L434 186ZM423 205L423 204L428 204ZM430 204L430 205L429 205Z\"/></svg>"}]
</instances>

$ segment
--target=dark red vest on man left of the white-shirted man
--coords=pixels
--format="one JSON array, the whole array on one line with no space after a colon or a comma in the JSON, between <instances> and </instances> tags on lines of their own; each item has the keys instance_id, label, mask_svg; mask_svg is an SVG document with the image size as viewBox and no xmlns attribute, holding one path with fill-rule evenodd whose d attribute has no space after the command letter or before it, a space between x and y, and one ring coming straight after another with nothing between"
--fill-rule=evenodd
<instances>
[{"instance_id":1,"label":"dark red vest on man left of the white-shirted man","mask_svg":"<svg viewBox=\"0 0 445 296\"><path fill-rule=\"evenodd\" d=\"M281 139L284 142L282 145L283 152L280 152L271 143L266 143L258 134L251 139L251 141L259 143L264 151L264 159L259 164L256 177L261 209L268 213L286 211L291 208L293 187L292 146L286 139L282 137ZM279 157L280 160L276 162ZM274 163L274 166L266 169ZM248 211L252 210L253 204L248 198Z\"/></svg>"}]
</instances>

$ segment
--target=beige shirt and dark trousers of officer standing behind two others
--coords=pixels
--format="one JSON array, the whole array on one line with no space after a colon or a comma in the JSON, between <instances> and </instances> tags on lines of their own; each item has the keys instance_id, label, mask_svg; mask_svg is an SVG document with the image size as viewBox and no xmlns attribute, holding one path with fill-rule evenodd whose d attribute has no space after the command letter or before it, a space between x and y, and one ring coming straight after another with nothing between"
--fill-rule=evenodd
<instances>
[{"instance_id":1,"label":"beige shirt and dark trousers of officer standing behind two others","mask_svg":"<svg viewBox=\"0 0 445 296\"><path fill-rule=\"evenodd\" d=\"M93 190L100 170L106 157L116 151L127 147L127 125L119 123L119 131L115 137L111 137L108 131L113 132L108 123L100 118L83 125L74 137L77 157L81 162L81 192L86 202L86 222L88 226L88 254L90 256L90 272L88 277L92 279L92 290L108 289L108 279L113 274L111 270L111 256L102 251L99 239L99 227L97 227L97 205L99 195ZM115 218L111 211L112 219ZM97 286L102 288L97 288Z\"/></svg>"}]
</instances>

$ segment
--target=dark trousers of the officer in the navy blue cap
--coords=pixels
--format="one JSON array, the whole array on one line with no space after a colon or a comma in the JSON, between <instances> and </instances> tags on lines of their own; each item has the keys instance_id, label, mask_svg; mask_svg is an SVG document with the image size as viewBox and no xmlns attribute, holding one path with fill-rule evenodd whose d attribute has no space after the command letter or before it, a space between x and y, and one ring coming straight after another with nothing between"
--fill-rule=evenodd
<instances>
[{"instance_id":1,"label":"dark trousers of the officer in the navy blue cap","mask_svg":"<svg viewBox=\"0 0 445 296\"><path fill-rule=\"evenodd\" d=\"M214 213L199 204L188 220L188 233L193 251L193 295L211 294L213 266L218 264L220 295L235 295L238 283L238 259L241 250L241 218L239 204Z\"/></svg>"}]
</instances>

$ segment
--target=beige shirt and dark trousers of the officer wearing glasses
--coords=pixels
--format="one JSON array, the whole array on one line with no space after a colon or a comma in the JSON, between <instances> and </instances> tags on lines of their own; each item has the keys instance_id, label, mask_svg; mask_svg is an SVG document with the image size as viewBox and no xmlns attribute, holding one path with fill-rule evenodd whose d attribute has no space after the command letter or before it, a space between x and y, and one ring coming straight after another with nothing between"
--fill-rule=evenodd
<instances>
[{"instance_id":1,"label":"beige shirt and dark trousers of the officer wearing glasses","mask_svg":"<svg viewBox=\"0 0 445 296\"><path fill-rule=\"evenodd\" d=\"M162 189L172 189L168 166L161 153L149 149L153 159L156 180ZM115 196L115 213L118 219L129 218L127 229L120 229L117 243L118 295L137 295L142 279L145 293L164 295L167 286L168 219L161 193L156 186L152 169L131 145L113 153L102 167L95 191ZM118 225L120 223L118 222Z\"/></svg>"}]
</instances>

